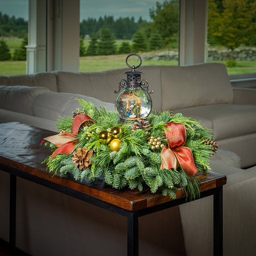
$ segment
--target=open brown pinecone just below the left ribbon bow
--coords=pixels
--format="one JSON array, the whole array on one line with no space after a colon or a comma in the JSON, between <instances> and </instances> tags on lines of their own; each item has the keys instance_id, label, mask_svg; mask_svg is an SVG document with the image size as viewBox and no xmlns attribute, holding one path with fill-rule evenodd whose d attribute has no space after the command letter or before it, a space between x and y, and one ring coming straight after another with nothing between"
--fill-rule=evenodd
<instances>
[{"instance_id":1,"label":"open brown pinecone just below the left ribbon bow","mask_svg":"<svg viewBox=\"0 0 256 256\"><path fill-rule=\"evenodd\" d=\"M87 152L87 148L84 146L83 148L78 148L77 152L73 152L72 162L74 162L74 166L79 168L80 170L89 169L90 166L90 157L94 153L93 150L89 150Z\"/></svg>"}]
</instances>

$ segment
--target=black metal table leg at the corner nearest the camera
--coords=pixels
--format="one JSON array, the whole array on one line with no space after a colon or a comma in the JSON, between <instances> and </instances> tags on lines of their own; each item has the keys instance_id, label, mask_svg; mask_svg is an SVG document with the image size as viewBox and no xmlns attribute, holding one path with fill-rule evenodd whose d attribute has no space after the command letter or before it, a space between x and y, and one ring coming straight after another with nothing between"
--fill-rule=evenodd
<instances>
[{"instance_id":1,"label":"black metal table leg at the corner nearest the camera","mask_svg":"<svg viewBox=\"0 0 256 256\"><path fill-rule=\"evenodd\" d=\"M127 215L127 255L138 256L138 212Z\"/></svg>"}]
</instances>

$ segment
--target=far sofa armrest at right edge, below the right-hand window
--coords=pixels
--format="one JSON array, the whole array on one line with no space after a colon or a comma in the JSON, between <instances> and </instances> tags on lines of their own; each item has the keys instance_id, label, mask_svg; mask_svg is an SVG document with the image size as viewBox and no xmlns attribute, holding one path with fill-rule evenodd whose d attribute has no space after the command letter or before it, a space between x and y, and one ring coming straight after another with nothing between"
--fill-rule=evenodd
<instances>
[{"instance_id":1,"label":"far sofa armrest at right edge, below the right-hand window","mask_svg":"<svg viewBox=\"0 0 256 256\"><path fill-rule=\"evenodd\" d=\"M233 88L233 103L256 105L256 89Z\"/></svg>"}]
</instances>

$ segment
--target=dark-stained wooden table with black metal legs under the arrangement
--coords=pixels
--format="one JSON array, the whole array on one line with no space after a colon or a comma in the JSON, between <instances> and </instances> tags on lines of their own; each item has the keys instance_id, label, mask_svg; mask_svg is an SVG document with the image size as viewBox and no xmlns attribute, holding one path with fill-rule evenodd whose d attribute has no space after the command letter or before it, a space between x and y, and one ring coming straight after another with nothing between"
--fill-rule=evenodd
<instances>
[{"instance_id":1,"label":"dark-stained wooden table with black metal legs under the arrangement","mask_svg":"<svg viewBox=\"0 0 256 256\"><path fill-rule=\"evenodd\" d=\"M159 210L184 204L186 196L181 189L177 199L162 194L152 194L149 190L134 193L131 190L116 190L104 183L103 178L95 182L76 182L46 172L41 164L51 154L42 146L41 139L54 132L31 127L18 122L0 124L0 170L10 174L10 251L15 252L16 232L16 177L47 186L52 190L89 202L127 217L127 255L138 255L138 217ZM225 175L207 172L201 179L201 196L214 195L214 255L223 254L223 214L222 186Z\"/></svg>"}]
</instances>

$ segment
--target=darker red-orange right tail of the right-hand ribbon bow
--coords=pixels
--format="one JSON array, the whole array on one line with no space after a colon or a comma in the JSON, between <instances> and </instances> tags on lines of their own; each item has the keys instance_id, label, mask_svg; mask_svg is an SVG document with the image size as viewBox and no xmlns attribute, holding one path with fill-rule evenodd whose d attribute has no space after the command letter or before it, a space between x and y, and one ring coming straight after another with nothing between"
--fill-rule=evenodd
<instances>
[{"instance_id":1,"label":"darker red-orange right tail of the right-hand ribbon bow","mask_svg":"<svg viewBox=\"0 0 256 256\"><path fill-rule=\"evenodd\" d=\"M173 149L173 152L177 157L180 166L188 177L192 177L196 174L196 172L198 172L196 164L194 164L194 158L190 148L179 146L178 148Z\"/></svg>"}]
</instances>

